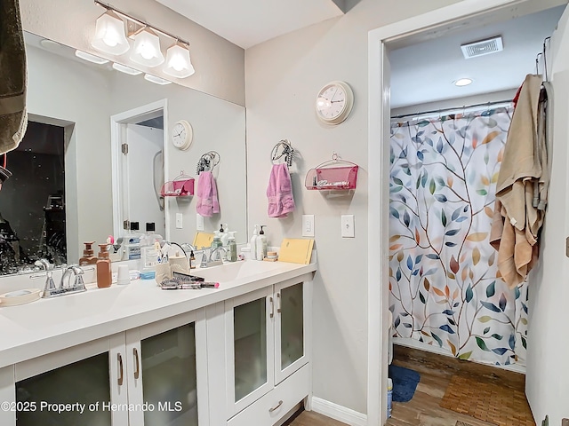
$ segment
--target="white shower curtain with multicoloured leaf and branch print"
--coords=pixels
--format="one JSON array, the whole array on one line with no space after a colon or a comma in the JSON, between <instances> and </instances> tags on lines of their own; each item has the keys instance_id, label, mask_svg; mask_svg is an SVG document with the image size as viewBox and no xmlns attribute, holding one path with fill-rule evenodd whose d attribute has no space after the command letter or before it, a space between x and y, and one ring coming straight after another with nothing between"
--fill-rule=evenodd
<instances>
[{"instance_id":1,"label":"white shower curtain with multicoloured leaf and branch print","mask_svg":"<svg viewBox=\"0 0 569 426\"><path fill-rule=\"evenodd\" d=\"M527 284L488 239L511 108L392 122L389 310L398 337L459 359L525 365Z\"/></svg>"}]
</instances>

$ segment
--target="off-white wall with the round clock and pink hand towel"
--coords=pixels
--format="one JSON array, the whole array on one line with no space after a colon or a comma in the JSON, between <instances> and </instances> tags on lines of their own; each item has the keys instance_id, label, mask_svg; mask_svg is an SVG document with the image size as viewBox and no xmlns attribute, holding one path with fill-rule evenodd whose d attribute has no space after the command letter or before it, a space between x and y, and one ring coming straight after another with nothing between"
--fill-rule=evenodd
<instances>
[{"instance_id":1,"label":"off-white wall with the round clock and pink hand towel","mask_svg":"<svg viewBox=\"0 0 569 426\"><path fill-rule=\"evenodd\" d=\"M359 413L366 411L367 383L368 31L453 3L362 0L341 18L245 51L248 226L268 225L269 242L278 244L283 237L301 236L303 213L315 215L314 395ZM346 122L328 127L317 121L314 101L331 80L348 82L356 100ZM282 138L299 153L292 168L297 209L292 217L268 219L269 155ZM306 172L333 151L360 165L350 196L326 198L304 189ZM355 239L341 239L342 214L355 215Z\"/></svg>"}]
</instances>

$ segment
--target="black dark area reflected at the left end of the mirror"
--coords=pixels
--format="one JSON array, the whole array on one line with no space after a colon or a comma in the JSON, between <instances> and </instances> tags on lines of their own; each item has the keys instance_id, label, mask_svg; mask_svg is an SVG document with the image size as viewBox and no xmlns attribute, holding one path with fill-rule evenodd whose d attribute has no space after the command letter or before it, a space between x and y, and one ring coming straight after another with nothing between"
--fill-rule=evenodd
<instances>
[{"instance_id":1,"label":"black dark area reflected at the left end of the mirror","mask_svg":"<svg viewBox=\"0 0 569 426\"><path fill-rule=\"evenodd\" d=\"M7 154L7 168L12 177L0 191L0 274L42 257L66 263L64 129L28 122L20 146Z\"/></svg>"}]
</instances>

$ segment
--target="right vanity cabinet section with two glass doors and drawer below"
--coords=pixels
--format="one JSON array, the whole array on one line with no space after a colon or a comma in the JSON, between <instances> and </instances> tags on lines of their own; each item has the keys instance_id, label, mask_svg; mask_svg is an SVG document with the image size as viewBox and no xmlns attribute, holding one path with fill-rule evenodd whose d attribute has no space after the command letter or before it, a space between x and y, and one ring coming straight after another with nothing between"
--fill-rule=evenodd
<instances>
[{"instance_id":1,"label":"right vanity cabinet section with two glass doors and drawer below","mask_svg":"<svg viewBox=\"0 0 569 426\"><path fill-rule=\"evenodd\" d=\"M225 301L228 425L272 425L309 395L309 290L288 280Z\"/></svg>"}]
</instances>

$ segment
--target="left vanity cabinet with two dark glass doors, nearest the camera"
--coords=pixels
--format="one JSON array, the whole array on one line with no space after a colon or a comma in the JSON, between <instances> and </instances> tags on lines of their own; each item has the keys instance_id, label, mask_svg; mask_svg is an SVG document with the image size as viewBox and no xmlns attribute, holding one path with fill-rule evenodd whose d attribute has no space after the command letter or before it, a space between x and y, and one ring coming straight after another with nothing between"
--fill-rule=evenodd
<instances>
[{"instance_id":1,"label":"left vanity cabinet with two dark glass doors, nearest the camera","mask_svg":"<svg viewBox=\"0 0 569 426\"><path fill-rule=\"evenodd\" d=\"M12 424L206 425L206 370L200 309L16 364Z\"/></svg>"}]
</instances>

